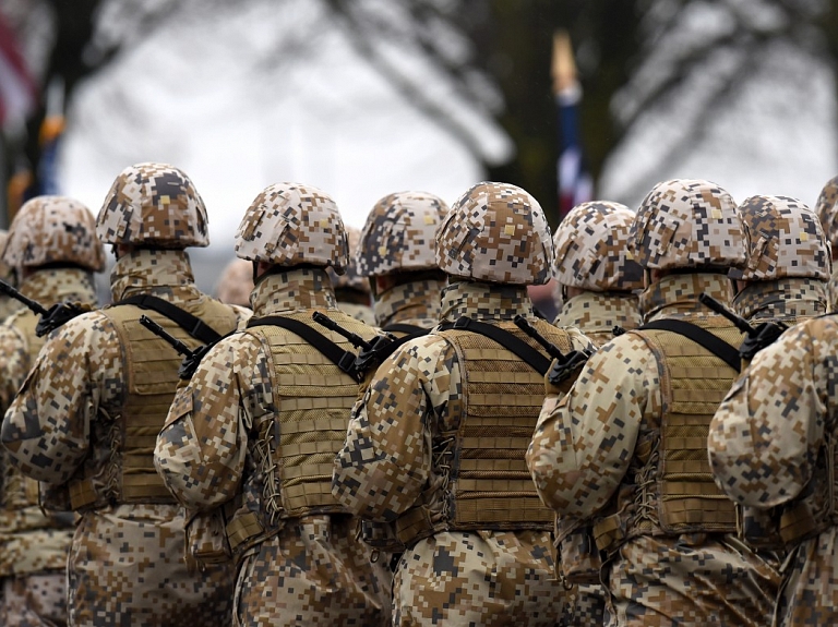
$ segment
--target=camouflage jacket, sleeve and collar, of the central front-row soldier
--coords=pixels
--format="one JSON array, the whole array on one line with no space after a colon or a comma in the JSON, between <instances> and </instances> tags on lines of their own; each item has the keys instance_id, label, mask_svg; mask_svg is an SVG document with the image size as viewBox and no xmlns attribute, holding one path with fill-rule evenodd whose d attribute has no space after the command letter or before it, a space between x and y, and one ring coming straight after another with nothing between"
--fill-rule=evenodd
<instances>
[{"instance_id":1,"label":"camouflage jacket, sleeve and collar, of the central front-row soldier","mask_svg":"<svg viewBox=\"0 0 838 627\"><path fill-rule=\"evenodd\" d=\"M462 281L443 291L443 322L462 315L491 322L516 314L535 316L526 291L516 286ZM575 349L592 348L578 330L567 333ZM391 355L352 409L346 443L335 459L335 496L372 520L395 519L423 493L442 498L444 478L433 470L431 443L463 412L462 377L455 349L433 333Z\"/></svg>"}]
</instances>

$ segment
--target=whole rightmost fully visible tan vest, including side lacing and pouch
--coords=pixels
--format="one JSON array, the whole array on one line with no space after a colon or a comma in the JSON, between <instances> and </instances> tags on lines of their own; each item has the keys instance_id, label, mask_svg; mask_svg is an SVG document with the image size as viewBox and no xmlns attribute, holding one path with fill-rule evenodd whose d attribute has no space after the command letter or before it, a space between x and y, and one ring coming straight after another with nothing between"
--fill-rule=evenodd
<instances>
[{"instance_id":1,"label":"whole rightmost fully visible tan vest, including side lacing and pouch","mask_svg":"<svg viewBox=\"0 0 838 627\"><path fill-rule=\"evenodd\" d=\"M705 328L733 348L742 343L742 334L728 323ZM677 333L637 335L658 362L663 415L651 441L638 442L635 456L643 467L634 478L634 504L621 503L619 514L595 526L597 545L611 552L636 535L735 533L737 508L713 479L707 436L737 372Z\"/></svg>"}]
</instances>

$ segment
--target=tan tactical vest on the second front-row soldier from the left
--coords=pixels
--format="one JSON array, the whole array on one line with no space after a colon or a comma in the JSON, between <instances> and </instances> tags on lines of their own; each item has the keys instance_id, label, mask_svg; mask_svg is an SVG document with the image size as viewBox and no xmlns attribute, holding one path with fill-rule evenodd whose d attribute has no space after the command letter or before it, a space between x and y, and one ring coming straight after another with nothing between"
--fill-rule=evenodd
<instances>
[{"instance_id":1,"label":"tan tactical vest on the second front-row soldier from the left","mask_svg":"<svg viewBox=\"0 0 838 627\"><path fill-rule=\"evenodd\" d=\"M310 325L342 349L356 352L343 336L312 323L311 312L283 317ZM366 340L375 335L372 327L345 313L330 311L328 317ZM346 514L332 495L332 472L359 389L355 378L295 333L272 325L253 326L246 333L270 349L278 412L275 420L254 425L259 439L251 450L264 478L261 511L230 513L227 534L234 550L271 534L287 519Z\"/></svg>"}]
</instances>

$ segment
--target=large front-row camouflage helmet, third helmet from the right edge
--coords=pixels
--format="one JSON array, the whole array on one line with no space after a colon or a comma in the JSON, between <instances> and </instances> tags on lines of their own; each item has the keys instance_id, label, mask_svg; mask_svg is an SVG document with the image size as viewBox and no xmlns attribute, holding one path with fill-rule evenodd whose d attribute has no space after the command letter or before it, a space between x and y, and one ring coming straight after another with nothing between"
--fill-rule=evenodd
<instances>
[{"instance_id":1,"label":"large front-row camouflage helmet, third helmet from the right edge","mask_svg":"<svg viewBox=\"0 0 838 627\"><path fill-rule=\"evenodd\" d=\"M737 205L716 183L674 179L655 185L628 234L644 268L730 268L745 264Z\"/></svg>"}]
</instances>

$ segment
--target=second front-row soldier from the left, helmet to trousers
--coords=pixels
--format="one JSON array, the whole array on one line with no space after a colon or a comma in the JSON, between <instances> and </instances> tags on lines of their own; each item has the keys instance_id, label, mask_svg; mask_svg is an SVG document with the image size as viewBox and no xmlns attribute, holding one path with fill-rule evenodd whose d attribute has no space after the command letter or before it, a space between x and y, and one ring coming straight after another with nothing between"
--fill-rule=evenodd
<instances>
[{"instance_id":1,"label":"second front-row soldier from the left, helmet to trousers","mask_svg":"<svg viewBox=\"0 0 838 627\"><path fill-rule=\"evenodd\" d=\"M312 186L271 185L248 208L236 254L253 264L254 318L178 391L157 469L188 507L224 508L236 625L385 625L390 574L330 492L358 378L349 341L321 334L312 314L376 335L337 309L326 274L348 261L337 206Z\"/></svg>"}]
</instances>

